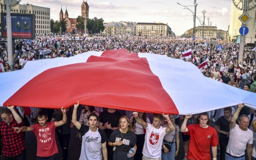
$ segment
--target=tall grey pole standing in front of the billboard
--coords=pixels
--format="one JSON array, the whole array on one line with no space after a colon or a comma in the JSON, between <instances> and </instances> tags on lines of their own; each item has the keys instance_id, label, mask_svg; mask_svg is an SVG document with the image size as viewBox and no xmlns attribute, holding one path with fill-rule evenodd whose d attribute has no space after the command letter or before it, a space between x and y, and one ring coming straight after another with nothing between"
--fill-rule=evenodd
<instances>
[{"instance_id":1,"label":"tall grey pole standing in front of the billboard","mask_svg":"<svg viewBox=\"0 0 256 160\"><path fill-rule=\"evenodd\" d=\"M7 30L7 51L8 51L8 63L13 69L12 62L12 22L10 13L10 0L6 1L6 30Z\"/></svg>"}]
</instances>

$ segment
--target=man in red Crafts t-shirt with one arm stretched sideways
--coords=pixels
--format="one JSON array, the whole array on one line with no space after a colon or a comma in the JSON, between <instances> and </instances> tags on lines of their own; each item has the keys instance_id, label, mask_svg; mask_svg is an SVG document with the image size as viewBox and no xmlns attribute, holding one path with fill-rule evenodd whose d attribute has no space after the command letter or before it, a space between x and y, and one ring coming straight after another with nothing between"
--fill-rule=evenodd
<instances>
[{"instance_id":1,"label":"man in red Crafts t-shirt with one arm stretched sideways","mask_svg":"<svg viewBox=\"0 0 256 160\"><path fill-rule=\"evenodd\" d=\"M36 135L37 140L37 160L54 160L58 153L58 146L55 138L55 128L59 127L67 122L66 109L63 107L60 109L63 118L61 121L47 122L48 116L45 111L38 112L38 124L32 125L31 127L13 127L14 130L19 133L21 131L32 131Z\"/></svg>"}]
</instances>

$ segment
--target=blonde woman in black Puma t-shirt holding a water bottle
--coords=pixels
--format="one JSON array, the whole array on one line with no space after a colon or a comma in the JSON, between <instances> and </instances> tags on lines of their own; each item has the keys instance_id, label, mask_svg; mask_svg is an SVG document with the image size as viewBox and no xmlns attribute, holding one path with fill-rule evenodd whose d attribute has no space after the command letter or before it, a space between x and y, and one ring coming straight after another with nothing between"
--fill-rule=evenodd
<instances>
[{"instance_id":1,"label":"blonde woman in black Puma t-shirt holding a water bottle","mask_svg":"<svg viewBox=\"0 0 256 160\"><path fill-rule=\"evenodd\" d=\"M114 130L109 137L108 145L115 146L113 160L133 160L133 156L136 153L137 137L132 132L132 123L126 116L122 116L119 120L119 129ZM134 148L135 151L131 158L127 157L127 153L131 148Z\"/></svg>"}]
</instances>

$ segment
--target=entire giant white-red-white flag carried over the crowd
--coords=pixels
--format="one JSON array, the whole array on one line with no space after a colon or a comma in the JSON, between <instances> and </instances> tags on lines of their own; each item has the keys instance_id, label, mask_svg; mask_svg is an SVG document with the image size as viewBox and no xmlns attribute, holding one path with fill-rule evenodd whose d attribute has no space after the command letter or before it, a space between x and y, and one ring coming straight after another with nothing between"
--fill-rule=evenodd
<instances>
[{"instance_id":1,"label":"entire giant white-red-white flag carried over the crowd","mask_svg":"<svg viewBox=\"0 0 256 160\"><path fill-rule=\"evenodd\" d=\"M256 109L255 93L209 79L192 63L166 55L132 54L125 49L28 61L22 70L0 73L0 84L0 106L57 109L79 101L98 107L182 115L240 103ZM218 101L198 101L209 91Z\"/></svg>"}]
</instances>

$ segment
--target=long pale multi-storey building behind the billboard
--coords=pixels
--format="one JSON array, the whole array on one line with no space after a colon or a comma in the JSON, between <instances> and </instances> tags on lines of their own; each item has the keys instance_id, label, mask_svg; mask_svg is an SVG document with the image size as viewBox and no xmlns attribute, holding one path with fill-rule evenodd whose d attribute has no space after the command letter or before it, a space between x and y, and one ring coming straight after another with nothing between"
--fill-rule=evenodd
<instances>
[{"instance_id":1,"label":"long pale multi-storey building behind the billboard","mask_svg":"<svg viewBox=\"0 0 256 160\"><path fill-rule=\"evenodd\" d=\"M1 0L2 4L4 0ZM18 1L12 1L12 3ZM29 13L35 14L35 34L50 34L50 8L34 6L33 4L18 4L11 6L11 13ZM1 6L1 12L6 13L5 6Z\"/></svg>"}]
</instances>

